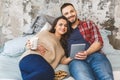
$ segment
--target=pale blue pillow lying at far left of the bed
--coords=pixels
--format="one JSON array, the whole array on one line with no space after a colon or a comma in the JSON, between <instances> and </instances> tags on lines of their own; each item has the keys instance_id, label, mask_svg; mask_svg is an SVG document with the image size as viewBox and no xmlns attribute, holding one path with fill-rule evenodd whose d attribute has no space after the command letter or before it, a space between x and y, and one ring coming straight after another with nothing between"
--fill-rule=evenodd
<instances>
[{"instance_id":1,"label":"pale blue pillow lying at far left of the bed","mask_svg":"<svg viewBox=\"0 0 120 80\"><path fill-rule=\"evenodd\" d=\"M4 46L2 55L11 56L11 57L20 56L25 51L26 41L30 37L31 36L18 37L13 40L9 40L9 41L5 42L5 46Z\"/></svg>"}]
</instances>

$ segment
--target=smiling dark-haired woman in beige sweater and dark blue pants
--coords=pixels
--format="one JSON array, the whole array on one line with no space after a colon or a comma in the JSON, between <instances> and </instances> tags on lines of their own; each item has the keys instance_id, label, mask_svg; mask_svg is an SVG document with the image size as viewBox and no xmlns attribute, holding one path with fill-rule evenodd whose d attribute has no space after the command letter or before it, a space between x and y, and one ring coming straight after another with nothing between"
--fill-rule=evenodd
<instances>
[{"instance_id":1,"label":"smiling dark-haired woman in beige sweater and dark blue pants","mask_svg":"<svg viewBox=\"0 0 120 80\"><path fill-rule=\"evenodd\" d=\"M21 57L19 67L23 80L54 80L54 69L59 63L67 64L71 61L65 57L66 39L70 32L68 21L60 16L55 19L50 31L39 32L36 36L38 45L46 51L27 50Z\"/></svg>"}]
</instances>

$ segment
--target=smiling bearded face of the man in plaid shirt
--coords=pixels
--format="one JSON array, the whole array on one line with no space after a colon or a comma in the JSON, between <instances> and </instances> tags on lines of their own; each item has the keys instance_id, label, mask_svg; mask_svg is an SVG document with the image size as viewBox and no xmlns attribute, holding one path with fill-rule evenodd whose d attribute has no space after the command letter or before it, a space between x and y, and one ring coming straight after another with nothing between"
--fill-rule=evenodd
<instances>
[{"instance_id":1,"label":"smiling bearded face of the man in plaid shirt","mask_svg":"<svg viewBox=\"0 0 120 80\"><path fill-rule=\"evenodd\" d=\"M77 20L77 13L73 6L69 5L62 9L62 14L65 16L72 24Z\"/></svg>"}]
</instances>

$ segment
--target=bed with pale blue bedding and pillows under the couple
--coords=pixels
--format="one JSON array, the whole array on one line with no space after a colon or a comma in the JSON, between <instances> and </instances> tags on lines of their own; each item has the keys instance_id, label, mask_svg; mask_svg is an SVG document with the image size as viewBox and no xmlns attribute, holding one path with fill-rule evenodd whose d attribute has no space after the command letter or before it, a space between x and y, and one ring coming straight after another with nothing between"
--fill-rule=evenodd
<instances>
[{"instance_id":1,"label":"bed with pale blue bedding and pillows under the couple","mask_svg":"<svg viewBox=\"0 0 120 80\"><path fill-rule=\"evenodd\" d=\"M20 37L6 41L4 45L0 46L0 80L22 80L18 62L20 56L25 51L26 41L38 31L50 28L49 23L52 23L51 21L53 21L54 18L48 15L41 15L36 19L30 30L24 32ZM106 56L112 64L115 80L120 80L120 50L115 50L109 44L107 38L107 35L110 34L109 31L102 29L100 32L105 43L102 50L106 53ZM64 70L69 74L67 65L59 65L56 71L57 70ZM74 79L69 76L64 80Z\"/></svg>"}]
</instances>

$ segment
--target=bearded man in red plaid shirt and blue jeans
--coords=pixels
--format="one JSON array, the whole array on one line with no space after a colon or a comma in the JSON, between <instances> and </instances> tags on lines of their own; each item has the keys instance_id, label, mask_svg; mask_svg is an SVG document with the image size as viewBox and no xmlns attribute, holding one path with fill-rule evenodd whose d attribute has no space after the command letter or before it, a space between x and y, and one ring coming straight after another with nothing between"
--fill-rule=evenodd
<instances>
[{"instance_id":1,"label":"bearded man in red plaid shirt and blue jeans","mask_svg":"<svg viewBox=\"0 0 120 80\"><path fill-rule=\"evenodd\" d=\"M109 60L101 53L103 40L92 21L81 21L71 3L61 6L61 13L70 22L72 33L68 38L68 52L71 44L85 43L86 49L78 52L69 63L69 70L75 80L114 80Z\"/></svg>"}]
</instances>

